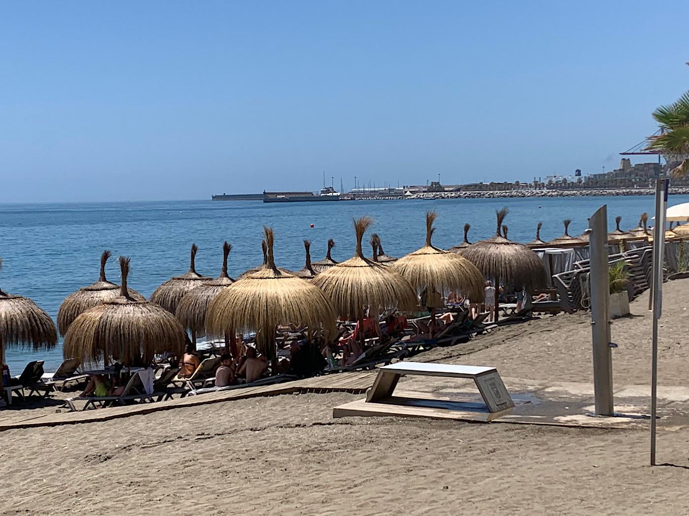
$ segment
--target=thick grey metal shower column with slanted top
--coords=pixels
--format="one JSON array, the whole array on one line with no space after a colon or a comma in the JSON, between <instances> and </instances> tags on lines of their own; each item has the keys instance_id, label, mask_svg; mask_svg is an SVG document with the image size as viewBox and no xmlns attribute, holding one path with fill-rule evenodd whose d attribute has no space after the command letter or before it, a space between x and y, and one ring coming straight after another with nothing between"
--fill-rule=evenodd
<instances>
[{"instance_id":1,"label":"thick grey metal shower column with slanted top","mask_svg":"<svg viewBox=\"0 0 689 516\"><path fill-rule=\"evenodd\" d=\"M601 206L588 219L591 233L590 288L593 337L593 389L596 415L613 416L613 352L610 348L610 277L608 273L608 207Z\"/></svg>"}]
</instances>

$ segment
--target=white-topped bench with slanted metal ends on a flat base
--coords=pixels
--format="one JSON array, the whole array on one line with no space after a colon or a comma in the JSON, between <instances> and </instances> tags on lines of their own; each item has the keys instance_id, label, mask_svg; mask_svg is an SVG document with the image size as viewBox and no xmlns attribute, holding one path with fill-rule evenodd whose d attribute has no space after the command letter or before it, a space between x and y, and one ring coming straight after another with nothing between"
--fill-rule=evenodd
<instances>
[{"instance_id":1,"label":"white-topped bench with slanted metal ends on a flat base","mask_svg":"<svg viewBox=\"0 0 689 516\"><path fill-rule=\"evenodd\" d=\"M476 407L475 403L447 400L428 393L409 392L404 396L393 396L402 375L471 378L486 405ZM399 362L380 367L366 400L335 407L333 417L396 415L489 421L508 413L514 406L495 367Z\"/></svg>"}]
</instances>

